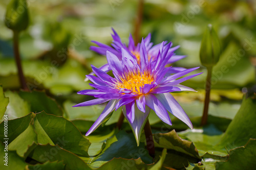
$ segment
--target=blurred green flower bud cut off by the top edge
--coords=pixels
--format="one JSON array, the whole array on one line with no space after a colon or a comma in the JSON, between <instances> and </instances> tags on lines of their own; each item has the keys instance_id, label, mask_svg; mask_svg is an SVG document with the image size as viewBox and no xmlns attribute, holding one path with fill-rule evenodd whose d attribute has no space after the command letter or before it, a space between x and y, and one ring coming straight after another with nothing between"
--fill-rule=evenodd
<instances>
[{"instance_id":1,"label":"blurred green flower bud cut off by the top edge","mask_svg":"<svg viewBox=\"0 0 256 170\"><path fill-rule=\"evenodd\" d=\"M25 30L29 25L26 0L12 0L7 6L5 25L13 31Z\"/></svg>"}]
</instances>

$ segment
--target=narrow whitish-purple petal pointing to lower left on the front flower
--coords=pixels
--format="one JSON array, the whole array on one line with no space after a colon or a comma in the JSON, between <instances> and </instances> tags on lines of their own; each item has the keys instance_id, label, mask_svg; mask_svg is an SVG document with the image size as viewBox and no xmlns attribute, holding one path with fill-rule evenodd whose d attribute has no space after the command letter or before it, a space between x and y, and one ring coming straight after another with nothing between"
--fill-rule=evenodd
<instances>
[{"instance_id":1,"label":"narrow whitish-purple petal pointing to lower left on the front flower","mask_svg":"<svg viewBox=\"0 0 256 170\"><path fill-rule=\"evenodd\" d=\"M97 118L93 126L86 133L86 136L90 135L95 129L97 129L100 126L100 124L104 122L104 120L109 118L109 116L111 115L110 113L115 109L116 103L117 103L117 100L111 100L106 105L106 107L104 108L102 113L99 115L99 117Z\"/></svg>"}]
</instances>

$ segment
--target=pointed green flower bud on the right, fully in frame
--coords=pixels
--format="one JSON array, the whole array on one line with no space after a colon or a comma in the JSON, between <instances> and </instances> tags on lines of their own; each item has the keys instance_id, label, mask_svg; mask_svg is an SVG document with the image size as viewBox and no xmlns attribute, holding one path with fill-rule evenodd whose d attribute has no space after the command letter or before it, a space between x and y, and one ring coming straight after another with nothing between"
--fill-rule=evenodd
<instances>
[{"instance_id":1,"label":"pointed green flower bud on the right, fully in frame","mask_svg":"<svg viewBox=\"0 0 256 170\"><path fill-rule=\"evenodd\" d=\"M221 55L221 45L218 35L209 24L201 43L200 60L202 65L212 67L218 63Z\"/></svg>"}]
</instances>

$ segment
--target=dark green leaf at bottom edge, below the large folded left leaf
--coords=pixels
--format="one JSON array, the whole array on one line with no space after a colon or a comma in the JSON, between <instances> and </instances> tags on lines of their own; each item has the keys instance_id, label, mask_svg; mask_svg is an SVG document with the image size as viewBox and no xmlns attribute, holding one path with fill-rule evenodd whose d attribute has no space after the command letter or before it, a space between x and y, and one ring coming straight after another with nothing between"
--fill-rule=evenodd
<instances>
[{"instance_id":1,"label":"dark green leaf at bottom edge, below the large folded left leaf","mask_svg":"<svg viewBox=\"0 0 256 170\"><path fill-rule=\"evenodd\" d=\"M74 169L74 170L90 170L91 168L78 156L75 154L60 148L58 145L37 145L31 152L31 158L45 163L47 161L63 161L63 164L66 165L65 169Z\"/></svg>"}]
</instances>

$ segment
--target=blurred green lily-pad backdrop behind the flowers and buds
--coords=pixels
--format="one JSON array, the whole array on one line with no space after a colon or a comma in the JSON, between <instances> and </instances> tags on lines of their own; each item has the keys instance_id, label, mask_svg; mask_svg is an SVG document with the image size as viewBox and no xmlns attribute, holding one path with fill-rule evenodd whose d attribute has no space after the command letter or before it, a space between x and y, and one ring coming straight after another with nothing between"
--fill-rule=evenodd
<instances>
[{"instance_id":1,"label":"blurred green lily-pad backdrop behind the flowers and buds","mask_svg":"<svg viewBox=\"0 0 256 170\"><path fill-rule=\"evenodd\" d=\"M7 3L0 3L1 18ZM127 43L137 15L137 1L125 0L31 0L28 6L30 26L20 35L25 76L37 88L58 95L88 88L83 79L90 64L106 63L105 57L89 50L91 40L110 45L114 28ZM196 67L203 31L212 23L223 50L213 72L213 88L242 89L255 81L255 8L255 1L145 1L141 36L151 32L154 44L167 40L180 45L176 54L187 57L174 65ZM3 19L0 25L0 82L5 89L17 89L12 32ZM206 73L184 84L204 88L205 77Z\"/></svg>"}]
</instances>

